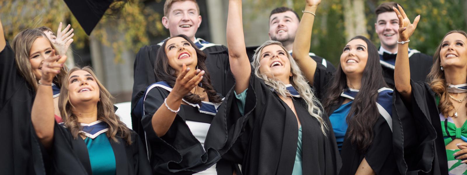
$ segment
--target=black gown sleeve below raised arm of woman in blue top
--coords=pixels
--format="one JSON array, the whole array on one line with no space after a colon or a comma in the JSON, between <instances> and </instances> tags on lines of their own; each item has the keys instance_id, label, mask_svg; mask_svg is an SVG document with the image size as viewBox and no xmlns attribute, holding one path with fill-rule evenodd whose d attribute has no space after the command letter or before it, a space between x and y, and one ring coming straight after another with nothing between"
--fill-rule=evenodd
<instances>
[{"instance_id":1,"label":"black gown sleeve below raised arm of woman in blue top","mask_svg":"<svg viewBox=\"0 0 467 175\"><path fill-rule=\"evenodd\" d=\"M324 96L327 90L327 85L331 82L331 78L333 78L333 72L326 70L326 67L322 64L316 65L313 89L315 91L315 96L321 101L325 98Z\"/></svg>"}]
</instances>

